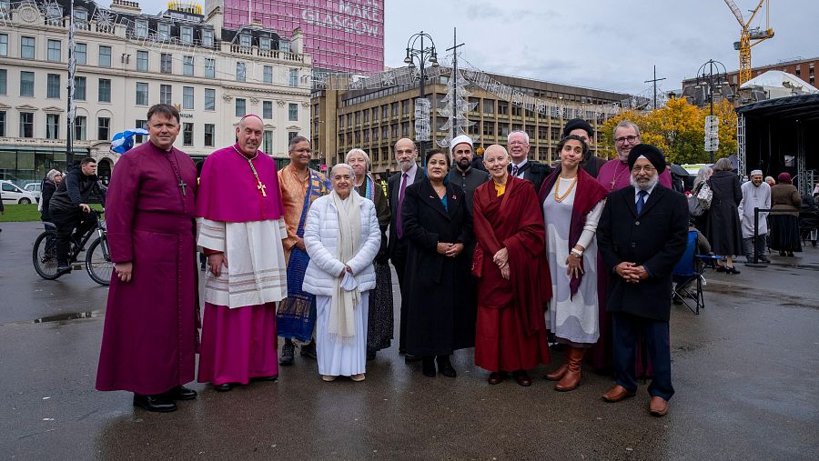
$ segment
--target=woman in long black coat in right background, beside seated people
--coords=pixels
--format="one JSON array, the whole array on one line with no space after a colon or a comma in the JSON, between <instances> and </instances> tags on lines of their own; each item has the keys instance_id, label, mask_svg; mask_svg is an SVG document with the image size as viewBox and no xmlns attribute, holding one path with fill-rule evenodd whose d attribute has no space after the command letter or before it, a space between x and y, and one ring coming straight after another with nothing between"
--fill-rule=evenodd
<instances>
[{"instance_id":1,"label":"woman in long black coat in right background, beside seated people","mask_svg":"<svg viewBox=\"0 0 819 461\"><path fill-rule=\"evenodd\" d=\"M737 206L743 200L739 176L733 173L731 160L721 158L713 165L708 180L713 192L711 208L705 224L705 235L715 254L725 257L725 266L719 272L739 274L733 266L733 256L743 255L743 231Z\"/></svg>"}]
</instances>

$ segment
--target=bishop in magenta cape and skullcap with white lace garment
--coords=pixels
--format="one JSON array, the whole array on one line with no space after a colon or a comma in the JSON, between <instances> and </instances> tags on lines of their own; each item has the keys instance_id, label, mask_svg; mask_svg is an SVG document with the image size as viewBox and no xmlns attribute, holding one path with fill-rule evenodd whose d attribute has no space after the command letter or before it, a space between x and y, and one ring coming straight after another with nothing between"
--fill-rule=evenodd
<instances>
[{"instance_id":1,"label":"bishop in magenta cape and skullcap with white lace garment","mask_svg":"<svg viewBox=\"0 0 819 461\"><path fill-rule=\"evenodd\" d=\"M207 255L201 383L219 391L278 377L276 303L288 296L284 205L264 125L245 115L238 142L207 156L197 195L197 244Z\"/></svg>"}]
</instances>

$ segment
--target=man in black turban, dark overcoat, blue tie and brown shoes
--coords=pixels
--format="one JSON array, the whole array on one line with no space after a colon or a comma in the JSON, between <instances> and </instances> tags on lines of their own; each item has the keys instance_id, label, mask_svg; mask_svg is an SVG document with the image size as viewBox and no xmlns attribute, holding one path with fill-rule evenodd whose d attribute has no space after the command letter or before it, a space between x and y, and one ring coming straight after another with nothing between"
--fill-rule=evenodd
<instances>
[{"instance_id":1,"label":"man in black turban, dark overcoat, blue tie and brown shoes","mask_svg":"<svg viewBox=\"0 0 819 461\"><path fill-rule=\"evenodd\" d=\"M665 157L653 145L635 145L629 153L631 187L609 194L597 227L597 242L612 273L606 310L612 313L616 385L602 397L619 402L634 396L637 338L646 339L654 377L648 391L649 412L664 416L674 388L668 320L672 270L688 242L685 196L659 183Z\"/></svg>"}]
</instances>

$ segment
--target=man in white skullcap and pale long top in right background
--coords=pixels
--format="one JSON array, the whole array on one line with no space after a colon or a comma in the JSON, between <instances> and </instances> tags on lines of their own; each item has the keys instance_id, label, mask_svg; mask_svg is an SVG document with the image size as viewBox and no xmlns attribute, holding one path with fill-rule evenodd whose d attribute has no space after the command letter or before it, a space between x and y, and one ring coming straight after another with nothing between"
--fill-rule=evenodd
<instances>
[{"instance_id":1,"label":"man in white skullcap and pale long top in right background","mask_svg":"<svg viewBox=\"0 0 819 461\"><path fill-rule=\"evenodd\" d=\"M753 262L754 252L757 261L770 263L765 256L765 235L768 233L767 213L759 214L756 239L753 238L753 208L771 208L771 186L763 181L762 170L753 170L751 180L742 185L743 200L739 205L740 221L743 223L743 248L747 262Z\"/></svg>"}]
</instances>

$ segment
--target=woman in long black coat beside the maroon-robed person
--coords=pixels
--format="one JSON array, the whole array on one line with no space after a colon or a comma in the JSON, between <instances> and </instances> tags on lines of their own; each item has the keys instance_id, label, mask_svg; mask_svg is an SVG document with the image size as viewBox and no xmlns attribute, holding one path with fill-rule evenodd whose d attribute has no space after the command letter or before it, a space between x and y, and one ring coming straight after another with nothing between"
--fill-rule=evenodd
<instances>
[{"instance_id":1,"label":"woman in long black coat beside the maroon-robed person","mask_svg":"<svg viewBox=\"0 0 819 461\"><path fill-rule=\"evenodd\" d=\"M427 175L407 187L402 227L409 239L403 302L407 309L407 353L423 357L423 373L455 377L450 355L475 345L476 306L462 293L470 286L464 246L473 239L466 196L444 184L450 160L439 150L425 159ZM470 306L471 305L471 306Z\"/></svg>"}]
</instances>

